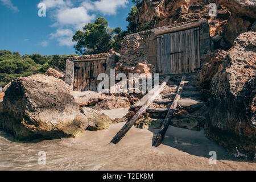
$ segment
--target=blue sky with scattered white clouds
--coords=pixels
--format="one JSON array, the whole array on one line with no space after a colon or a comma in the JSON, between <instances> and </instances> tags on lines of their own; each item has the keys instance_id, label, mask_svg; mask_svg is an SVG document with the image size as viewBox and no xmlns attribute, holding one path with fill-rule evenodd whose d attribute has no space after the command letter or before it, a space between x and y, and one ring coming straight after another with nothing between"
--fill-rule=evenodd
<instances>
[{"instance_id":1,"label":"blue sky with scattered white clouds","mask_svg":"<svg viewBox=\"0 0 256 182\"><path fill-rule=\"evenodd\" d=\"M41 2L46 17L38 16ZM126 30L131 6L131 0L0 0L0 49L20 55L75 53L71 39L76 30L98 16Z\"/></svg>"}]
</instances>

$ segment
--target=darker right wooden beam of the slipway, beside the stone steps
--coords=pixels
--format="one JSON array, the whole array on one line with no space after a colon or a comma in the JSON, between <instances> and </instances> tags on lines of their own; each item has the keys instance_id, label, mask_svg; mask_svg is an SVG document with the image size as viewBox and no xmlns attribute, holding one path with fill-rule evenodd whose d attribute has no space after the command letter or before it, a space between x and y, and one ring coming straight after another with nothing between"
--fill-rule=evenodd
<instances>
[{"instance_id":1,"label":"darker right wooden beam of the slipway, beside the stone steps","mask_svg":"<svg viewBox=\"0 0 256 182\"><path fill-rule=\"evenodd\" d=\"M182 90L184 88L184 84L185 84L185 78L186 78L185 76L183 76L181 78L180 86L179 86L179 89L178 89L178 91L176 93L174 102L172 102L170 110L168 111L168 113L166 115L166 118L164 119L163 125L162 125L161 129L159 130L158 134L156 135L156 138L155 138L155 140L154 140L154 142L152 144L152 146L154 146L154 147L160 146L160 144L163 141L164 135L166 134L168 126L170 125L170 121L171 121L172 115L174 114L174 111L177 108L177 101L180 100L181 92L182 92Z\"/></svg>"}]
</instances>

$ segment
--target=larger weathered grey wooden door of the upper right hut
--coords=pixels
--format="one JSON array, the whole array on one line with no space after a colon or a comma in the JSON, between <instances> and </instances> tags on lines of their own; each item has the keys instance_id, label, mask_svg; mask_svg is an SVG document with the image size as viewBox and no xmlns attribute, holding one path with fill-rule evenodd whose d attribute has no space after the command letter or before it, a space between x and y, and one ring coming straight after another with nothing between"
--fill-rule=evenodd
<instances>
[{"instance_id":1,"label":"larger weathered grey wooden door of the upper right hut","mask_svg":"<svg viewBox=\"0 0 256 182\"><path fill-rule=\"evenodd\" d=\"M160 75L192 73L200 68L199 27L160 35L156 43Z\"/></svg>"}]
</instances>

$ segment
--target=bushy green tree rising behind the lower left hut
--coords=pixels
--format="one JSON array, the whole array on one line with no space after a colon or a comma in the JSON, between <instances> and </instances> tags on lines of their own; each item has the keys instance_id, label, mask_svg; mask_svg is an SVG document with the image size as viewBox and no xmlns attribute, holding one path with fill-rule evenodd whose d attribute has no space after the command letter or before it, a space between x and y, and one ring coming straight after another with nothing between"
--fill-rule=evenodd
<instances>
[{"instance_id":1,"label":"bushy green tree rising behind the lower left hut","mask_svg":"<svg viewBox=\"0 0 256 182\"><path fill-rule=\"evenodd\" d=\"M108 27L108 21L99 17L94 23L88 23L83 31L76 31L73 41L79 55L88 55L108 52L112 48L112 31Z\"/></svg>"}]
</instances>

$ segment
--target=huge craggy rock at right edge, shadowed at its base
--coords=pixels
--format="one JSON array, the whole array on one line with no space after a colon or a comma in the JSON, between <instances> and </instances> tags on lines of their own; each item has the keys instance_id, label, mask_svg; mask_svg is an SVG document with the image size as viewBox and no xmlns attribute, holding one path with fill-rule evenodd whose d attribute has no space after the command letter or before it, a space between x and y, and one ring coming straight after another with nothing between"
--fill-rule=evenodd
<instances>
[{"instance_id":1,"label":"huge craggy rock at right edge, shadowed at its base","mask_svg":"<svg viewBox=\"0 0 256 182\"><path fill-rule=\"evenodd\" d=\"M256 32L238 36L210 84L205 132L231 152L256 154ZM213 69L215 67L204 67ZM207 77L207 75L205 75ZM208 78L205 82L208 82ZM237 148L237 149L236 149Z\"/></svg>"}]
</instances>

